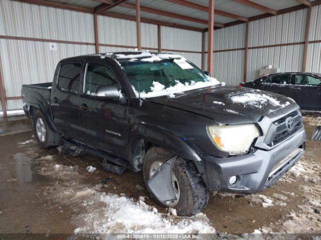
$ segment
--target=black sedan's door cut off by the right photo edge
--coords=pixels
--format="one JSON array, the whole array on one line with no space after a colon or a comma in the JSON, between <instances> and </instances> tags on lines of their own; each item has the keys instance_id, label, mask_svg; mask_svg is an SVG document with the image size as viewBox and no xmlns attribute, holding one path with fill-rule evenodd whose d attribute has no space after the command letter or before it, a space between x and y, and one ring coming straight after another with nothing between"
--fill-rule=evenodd
<instances>
[{"instance_id":1,"label":"black sedan's door cut off by the right photo edge","mask_svg":"<svg viewBox=\"0 0 321 240\"><path fill-rule=\"evenodd\" d=\"M321 79L308 73L294 77L292 98L304 109L321 109Z\"/></svg>"}]
</instances>

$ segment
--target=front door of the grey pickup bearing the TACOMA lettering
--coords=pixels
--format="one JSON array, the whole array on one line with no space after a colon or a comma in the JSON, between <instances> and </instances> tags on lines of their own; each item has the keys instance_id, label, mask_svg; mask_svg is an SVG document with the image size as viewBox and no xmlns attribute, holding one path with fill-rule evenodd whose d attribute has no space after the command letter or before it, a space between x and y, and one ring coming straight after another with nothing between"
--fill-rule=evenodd
<instances>
[{"instance_id":1,"label":"front door of the grey pickup bearing the TACOMA lettering","mask_svg":"<svg viewBox=\"0 0 321 240\"><path fill-rule=\"evenodd\" d=\"M127 157L127 100L98 99L98 86L121 84L105 61L86 62L84 89L79 97L84 142L121 157ZM123 95L123 94L121 94Z\"/></svg>"}]
</instances>

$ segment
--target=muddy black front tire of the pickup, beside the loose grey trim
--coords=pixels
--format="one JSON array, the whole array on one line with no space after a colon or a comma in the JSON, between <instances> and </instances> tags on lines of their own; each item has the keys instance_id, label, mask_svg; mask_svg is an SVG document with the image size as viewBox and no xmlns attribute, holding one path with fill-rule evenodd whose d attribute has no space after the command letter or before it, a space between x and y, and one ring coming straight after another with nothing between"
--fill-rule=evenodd
<instances>
[{"instance_id":1,"label":"muddy black front tire of the pickup, beside the loose grey trim","mask_svg":"<svg viewBox=\"0 0 321 240\"><path fill-rule=\"evenodd\" d=\"M149 179L149 169L155 161L167 161L172 157L172 153L162 147L151 147L144 156L143 176L146 188L151 198L159 205L168 207L162 203L150 191L147 186ZM201 212L209 200L209 191L205 186L203 179L198 176L194 162L178 157L173 166L180 187L180 199L177 205L173 206L180 216L193 216Z\"/></svg>"}]
</instances>

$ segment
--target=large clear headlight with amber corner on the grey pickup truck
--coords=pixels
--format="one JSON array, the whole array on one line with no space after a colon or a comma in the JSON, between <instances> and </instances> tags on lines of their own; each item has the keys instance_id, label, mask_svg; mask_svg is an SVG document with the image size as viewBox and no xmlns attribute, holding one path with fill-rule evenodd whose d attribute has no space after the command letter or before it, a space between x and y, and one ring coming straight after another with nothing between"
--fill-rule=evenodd
<instances>
[{"instance_id":1,"label":"large clear headlight with amber corner on the grey pickup truck","mask_svg":"<svg viewBox=\"0 0 321 240\"><path fill-rule=\"evenodd\" d=\"M253 140L260 135L254 124L207 126L207 132L213 143L230 155L245 153Z\"/></svg>"}]
</instances>

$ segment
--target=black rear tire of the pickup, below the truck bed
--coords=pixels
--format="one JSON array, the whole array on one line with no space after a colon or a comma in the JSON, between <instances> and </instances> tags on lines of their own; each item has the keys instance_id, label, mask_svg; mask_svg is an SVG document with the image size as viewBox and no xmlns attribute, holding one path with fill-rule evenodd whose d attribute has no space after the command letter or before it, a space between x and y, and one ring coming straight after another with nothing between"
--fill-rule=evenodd
<instances>
[{"instance_id":1,"label":"black rear tire of the pickup, below the truck bed","mask_svg":"<svg viewBox=\"0 0 321 240\"><path fill-rule=\"evenodd\" d=\"M45 140L42 141L39 139L39 136L37 134L37 119L41 118L42 121L44 122L45 125L45 129L46 129L46 134L45 134ZM42 114L42 112L40 110L36 110L35 114L33 115L32 118L32 125L33 125L33 130L34 130L34 135L36 137L37 143L38 145L43 148L43 149L47 149L49 147L53 147L53 146L58 146L59 145L59 134L54 132L53 130L51 130L51 128L49 127L45 116Z\"/></svg>"}]
</instances>

